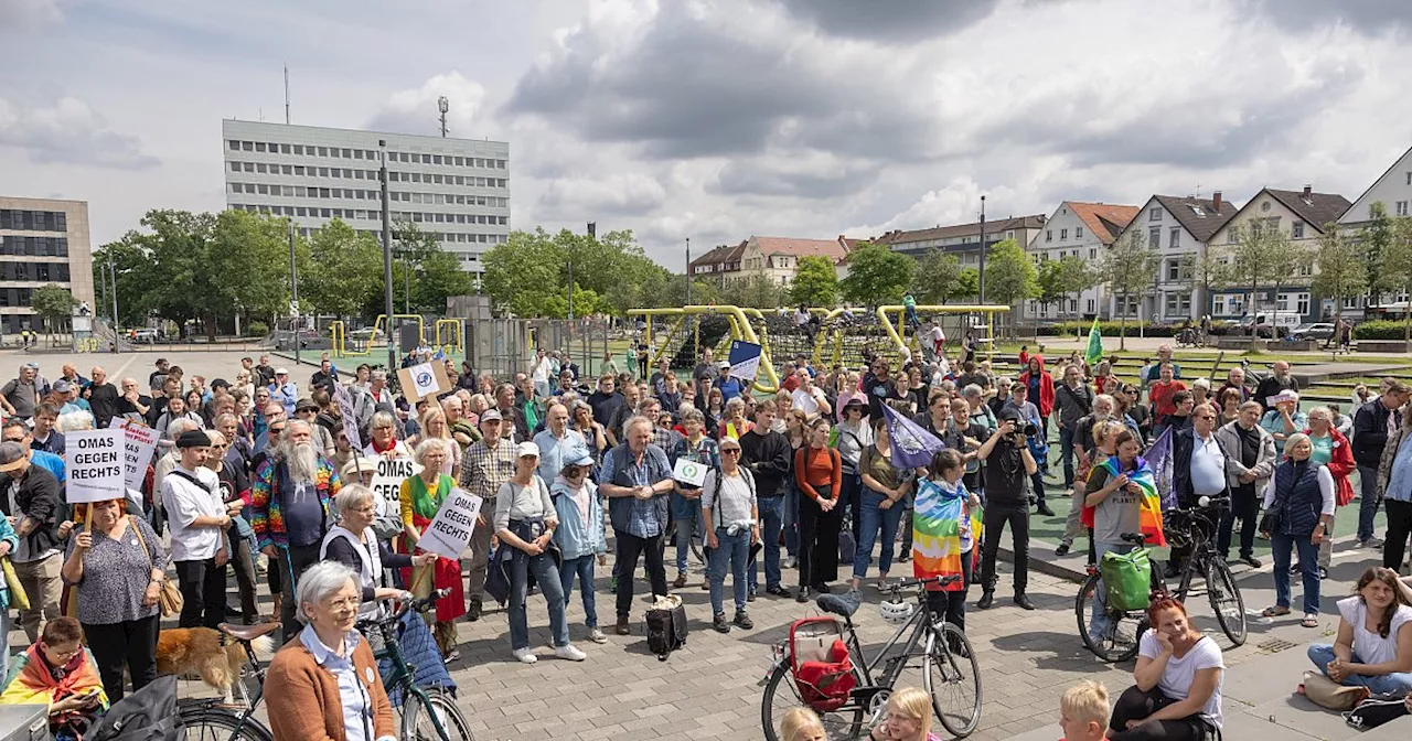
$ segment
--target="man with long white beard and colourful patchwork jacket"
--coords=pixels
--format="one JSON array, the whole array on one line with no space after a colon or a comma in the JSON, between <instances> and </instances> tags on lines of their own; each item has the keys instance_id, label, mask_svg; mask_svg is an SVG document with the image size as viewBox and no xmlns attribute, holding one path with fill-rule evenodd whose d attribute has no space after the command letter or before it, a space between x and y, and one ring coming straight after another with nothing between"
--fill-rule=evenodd
<instances>
[{"instance_id":1,"label":"man with long white beard and colourful patchwork jacket","mask_svg":"<svg viewBox=\"0 0 1412 741\"><path fill-rule=\"evenodd\" d=\"M280 569L285 594L295 594L299 576L318 563L319 543L332 525L329 500L339 488L337 471L313 447L313 429L289 421L275 454L260 464L250 487L251 528L260 552ZM304 628L294 617L297 607L295 600L281 606L285 641Z\"/></svg>"}]
</instances>

